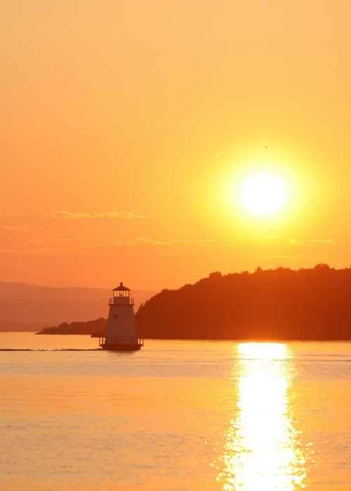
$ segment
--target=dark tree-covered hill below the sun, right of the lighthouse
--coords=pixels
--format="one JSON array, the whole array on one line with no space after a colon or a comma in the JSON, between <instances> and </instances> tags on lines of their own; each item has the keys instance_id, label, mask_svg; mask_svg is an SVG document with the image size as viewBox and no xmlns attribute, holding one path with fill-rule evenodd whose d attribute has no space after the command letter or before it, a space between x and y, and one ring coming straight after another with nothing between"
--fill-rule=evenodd
<instances>
[{"instance_id":1,"label":"dark tree-covered hill below the sun, right of the lighthouse","mask_svg":"<svg viewBox=\"0 0 351 491\"><path fill-rule=\"evenodd\" d=\"M136 323L140 336L154 338L351 339L350 300L350 268L216 272L162 290Z\"/></svg>"}]
</instances>

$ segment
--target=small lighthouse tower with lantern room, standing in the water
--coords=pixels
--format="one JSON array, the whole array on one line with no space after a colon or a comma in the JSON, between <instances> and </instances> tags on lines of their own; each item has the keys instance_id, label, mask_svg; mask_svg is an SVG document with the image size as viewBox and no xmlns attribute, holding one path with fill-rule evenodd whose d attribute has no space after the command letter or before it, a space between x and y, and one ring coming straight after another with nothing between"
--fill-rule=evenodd
<instances>
[{"instance_id":1,"label":"small lighthouse tower with lantern room, standing in the water","mask_svg":"<svg viewBox=\"0 0 351 491\"><path fill-rule=\"evenodd\" d=\"M123 283L119 283L119 286L113 290L113 297L109 300L110 310L106 337L102 339L102 349L133 351L144 345L143 339L136 335L133 306L131 290Z\"/></svg>"}]
</instances>

